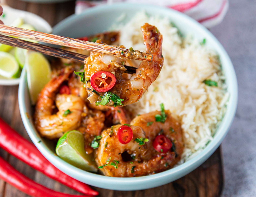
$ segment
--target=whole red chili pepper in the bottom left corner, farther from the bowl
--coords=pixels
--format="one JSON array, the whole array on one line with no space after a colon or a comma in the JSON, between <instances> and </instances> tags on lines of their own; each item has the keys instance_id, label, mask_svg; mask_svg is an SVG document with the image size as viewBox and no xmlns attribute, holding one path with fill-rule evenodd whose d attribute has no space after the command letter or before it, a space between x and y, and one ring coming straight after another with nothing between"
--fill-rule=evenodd
<instances>
[{"instance_id":1,"label":"whole red chili pepper in the bottom left corner, farther from the bowl","mask_svg":"<svg viewBox=\"0 0 256 197\"><path fill-rule=\"evenodd\" d=\"M85 197L87 195L71 195L51 190L27 178L0 157L0 178L20 191L34 197Z\"/></svg>"}]
</instances>

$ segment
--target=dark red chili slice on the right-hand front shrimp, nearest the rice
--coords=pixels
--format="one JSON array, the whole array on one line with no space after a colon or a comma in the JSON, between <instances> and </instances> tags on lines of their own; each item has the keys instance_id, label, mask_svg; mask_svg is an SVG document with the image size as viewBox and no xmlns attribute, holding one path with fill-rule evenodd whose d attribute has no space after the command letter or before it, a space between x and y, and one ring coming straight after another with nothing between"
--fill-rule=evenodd
<instances>
[{"instance_id":1,"label":"dark red chili slice on the right-hand front shrimp, nearest the rice","mask_svg":"<svg viewBox=\"0 0 256 197\"><path fill-rule=\"evenodd\" d=\"M164 135L156 136L153 141L153 147L159 153L166 153L172 147L172 142Z\"/></svg>"}]
</instances>

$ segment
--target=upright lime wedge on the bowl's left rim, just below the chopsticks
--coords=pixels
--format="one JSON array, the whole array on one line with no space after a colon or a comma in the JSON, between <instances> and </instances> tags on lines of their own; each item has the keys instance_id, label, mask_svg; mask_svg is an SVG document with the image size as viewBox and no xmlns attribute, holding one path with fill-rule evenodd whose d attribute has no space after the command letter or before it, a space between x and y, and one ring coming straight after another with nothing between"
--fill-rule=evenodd
<instances>
[{"instance_id":1,"label":"upright lime wedge on the bowl's left rim, just below the chopsticks","mask_svg":"<svg viewBox=\"0 0 256 197\"><path fill-rule=\"evenodd\" d=\"M28 51L25 57L28 90L31 103L34 105L37 96L51 79L51 68L48 60L41 53Z\"/></svg>"}]
</instances>

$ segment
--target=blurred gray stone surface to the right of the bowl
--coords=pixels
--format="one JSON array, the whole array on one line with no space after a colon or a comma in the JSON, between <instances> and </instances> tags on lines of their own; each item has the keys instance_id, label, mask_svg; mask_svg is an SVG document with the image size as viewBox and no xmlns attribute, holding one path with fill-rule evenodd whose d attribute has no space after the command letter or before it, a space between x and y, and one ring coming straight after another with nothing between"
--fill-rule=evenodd
<instances>
[{"instance_id":1,"label":"blurred gray stone surface to the right of the bowl","mask_svg":"<svg viewBox=\"0 0 256 197\"><path fill-rule=\"evenodd\" d=\"M256 1L230 0L223 22L211 28L236 70L236 116L222 143L225 183L222 197L256 196Z\"/></svg>"}]
</instances>

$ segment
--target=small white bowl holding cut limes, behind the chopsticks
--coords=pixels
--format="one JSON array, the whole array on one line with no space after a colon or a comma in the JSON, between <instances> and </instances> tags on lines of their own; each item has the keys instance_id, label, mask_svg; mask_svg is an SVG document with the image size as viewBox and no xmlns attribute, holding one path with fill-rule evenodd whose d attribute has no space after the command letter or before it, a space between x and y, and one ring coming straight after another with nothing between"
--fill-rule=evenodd
<instances>
[{"instance_id":1,"label":"small white bowl holding cut limes, behind the chopsticks","mask_svg":"<svg viewBox=\"0 0 256 197\"><path fill-rule=\"evenodd\" d=\"M7 5L3 5L3 15L0 17L0 20L4 22L6 25L12 24L12 22L17 18L22 18L25 23L31 24L37 31L50 33L52 28L50 24L31 12L18 10L11 8ZM7 79L5 77L0 76L0 85L17 85L19 84L20 78L17 79Z\"/></svg>"}]
</instances>

